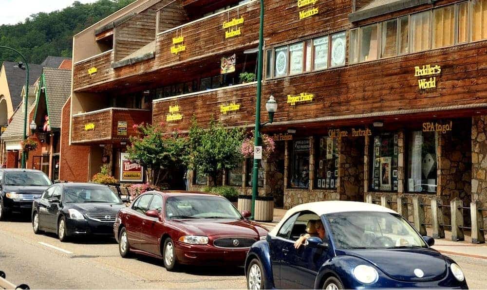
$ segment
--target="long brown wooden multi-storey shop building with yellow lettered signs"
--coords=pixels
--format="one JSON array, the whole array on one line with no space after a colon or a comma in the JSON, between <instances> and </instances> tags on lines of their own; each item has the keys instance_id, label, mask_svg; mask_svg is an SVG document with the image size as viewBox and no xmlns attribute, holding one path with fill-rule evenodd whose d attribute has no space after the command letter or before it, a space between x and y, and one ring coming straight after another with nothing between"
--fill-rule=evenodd
<instances>
[{"instance_id":1,"label":"long brown wooden multi-storey shop building with yellow lettered signs","mask_svg":"<svg viewBox=\"0 0 487 290\"><path fill-rule=\"evenodd\" d=\"M251 129L256 83L238 75L255 72L259 9L139 0L76 35L71 143L113 156L117 122L128 137L150 120L186 131L193 115ZM486 31L487 0L266 0L262 120L271 94L279 109L260 194L286 208L369 192L487 204ZM249 194L249 167L223 182Z\"/></svg>"}]
</instances>

